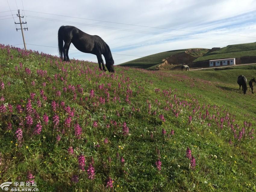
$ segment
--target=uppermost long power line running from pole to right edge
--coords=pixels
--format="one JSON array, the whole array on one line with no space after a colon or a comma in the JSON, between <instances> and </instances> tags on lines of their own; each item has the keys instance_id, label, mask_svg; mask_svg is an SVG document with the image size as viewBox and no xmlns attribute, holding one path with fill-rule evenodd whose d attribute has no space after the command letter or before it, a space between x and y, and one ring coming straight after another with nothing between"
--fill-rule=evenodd
<instances>
[{"instance_id":1,"label":"uppermost long power line running from pole to right edge","mask_svg":"<svg viewBox=\"0 0 256 192\"><path fill-rule=\"evenodd\" d=\"M28 10L26 10L28 11ZM229 34L223 34L223 33L211 33L211 32L202 32L202 31L190 31L190 30L180 30L180 29L169 29L169 28L162 28L162 27L150 27L145 25L135 25L135 24L126 24L126 23L118 23L118 22L111 22L111 21L104 21L104 20L96 20L96 19L88 19L88 18L82 18L82 17L72 17L67 15L58 15L58 14L51 14L51 13L44 13L44 12L37 12L37 11L29 11L34 13L42 13L42 14L49 14L49 15L56 15L61 17L70 17L70 18L77 18L77 19L85 19L85 20L92 20L92 21L100 21L100 22L106 22L106 23L114 23L114 24L122 24L122 25L130 25L130 26L137 26L137 27L148 27L148 28L155 28L155 29L166 29L166 30L176 30L176 31L186 31L186 32L193 32L193 33L210 33L215 35L226 35L226 36L238 36L238 37L249 37L249 38L256 38L256 37L250 37L250 36L240 36L240 35L229 35Z\"/></svg>"}]
</instances>

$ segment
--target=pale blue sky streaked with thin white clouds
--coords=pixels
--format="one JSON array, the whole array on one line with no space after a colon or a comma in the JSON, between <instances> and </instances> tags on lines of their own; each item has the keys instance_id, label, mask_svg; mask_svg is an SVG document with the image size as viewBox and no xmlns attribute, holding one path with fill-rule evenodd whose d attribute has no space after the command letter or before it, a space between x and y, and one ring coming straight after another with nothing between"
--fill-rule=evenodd
<instances>
[{"instance_id":1,"label":"pale blue sky streaked with thin white clouds","mask_svg":"<svg viewBox=\"0 0 256 192\"><path fill-rule=\"evenodd\" d=\"M159 52L256 42L255 0L0 0L0 43L58 55L58 29L100 36L116 64ZM70 46L69 58L97 62Z\"/></svg>"}]
</instances>

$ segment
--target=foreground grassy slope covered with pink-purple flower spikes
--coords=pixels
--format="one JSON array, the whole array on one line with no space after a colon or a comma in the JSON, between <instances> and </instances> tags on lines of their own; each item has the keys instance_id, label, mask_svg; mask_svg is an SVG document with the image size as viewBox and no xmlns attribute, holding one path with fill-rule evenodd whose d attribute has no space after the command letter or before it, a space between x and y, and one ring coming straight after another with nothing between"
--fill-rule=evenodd
<instances>
[{"instance_id":1,"label":"foreground grassy slope covered with pink-purple flower spikes","mask_svg":"<svg viewBox=\"0 0 256 192\"><path fill-rule=\"evenodd\" d=\"M236 83L251 69L111 74L0 45L0 181L47 192L255 191L255 95Z\"/></svg>"}]
</instances>

